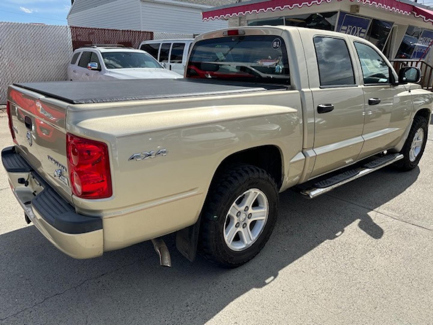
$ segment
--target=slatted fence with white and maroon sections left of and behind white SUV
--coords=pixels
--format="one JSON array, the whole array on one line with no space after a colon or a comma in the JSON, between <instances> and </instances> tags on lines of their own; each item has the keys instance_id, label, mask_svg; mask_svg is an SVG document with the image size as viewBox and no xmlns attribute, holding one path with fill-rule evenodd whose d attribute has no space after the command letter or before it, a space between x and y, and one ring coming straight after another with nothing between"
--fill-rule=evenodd
<instances>
[{"instance_id":1,"label":"slatted fence with white and maroon sections left of and behind white SUV","mask_svg":"<svg viewBox=\"0 0 433 325\"><path fill-rule=\"evenodd\" d=\"M88 44L137 49L149 39L152 32L0 22L0 104L6 104L10 84L66 80L74 49Z\"/></svg>"}]
</instances>

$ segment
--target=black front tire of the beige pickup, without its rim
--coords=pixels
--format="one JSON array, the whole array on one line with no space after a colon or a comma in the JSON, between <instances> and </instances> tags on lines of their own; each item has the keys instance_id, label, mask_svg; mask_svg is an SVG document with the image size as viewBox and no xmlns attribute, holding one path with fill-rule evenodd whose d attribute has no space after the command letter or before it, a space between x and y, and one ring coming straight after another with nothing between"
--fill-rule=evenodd
<instances>
[{"instance_id":1,"label":"black front tire of the beige pickup, without its rim","mask_svg":"<svg viewBox=\"0 0 433 325\"><path fill-rule=\"evenodd\" d=\"M416 159L412 162L409 159L410 146L412 145L412 141L414 140L415 133L418 129L422 128L424 131L424 139L423 144L421 146L421 151L416 157ZM428 125L427 120L424 117L417 116L414 118L414 122L412 123L412 127L410 127L409 135L407 136L406 142L404 143L403 149L401 149L400 153L403 154L404 158L395 163L395 167L397 169L408 172L418 166L418 162L420 162L421 157L423 156L424 149L427 143L427 132Z\"/></svg>"}]
</instances>

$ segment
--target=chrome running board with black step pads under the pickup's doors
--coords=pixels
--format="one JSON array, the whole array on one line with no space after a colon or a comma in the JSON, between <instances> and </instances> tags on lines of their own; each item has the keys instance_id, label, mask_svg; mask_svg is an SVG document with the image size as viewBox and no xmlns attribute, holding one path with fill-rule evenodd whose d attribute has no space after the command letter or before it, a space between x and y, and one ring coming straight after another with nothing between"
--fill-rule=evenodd
<instances>
[{"instance_id":1,"label":"chrome running board with black step pads under the pickup's doors","mask_svg":"<svg viewBox=\"0 0 433 325\"><path fill-rule=\"evenodd\" d=\"M393 153L380 157L366 163L361 167L350 169L328 179L316 182L311 188L302 189L301 194L307 196L307 198L316 198L317 196L325 194L326 192L330 192L334 188L337 188L343 184L352 182L353 180L359 179L360 177L371 172L375 172L378 169L391 165L400 159L403 159L403 155L401 153Z\"/></svg>"}]
</instances>

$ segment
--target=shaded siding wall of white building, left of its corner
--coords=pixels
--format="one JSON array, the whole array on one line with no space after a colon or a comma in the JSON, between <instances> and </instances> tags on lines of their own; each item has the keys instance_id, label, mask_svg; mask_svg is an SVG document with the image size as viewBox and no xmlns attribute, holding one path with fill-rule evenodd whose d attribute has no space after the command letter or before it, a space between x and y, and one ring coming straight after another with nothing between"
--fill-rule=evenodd
<instances>
[{"instance_id":1,"label":"shaded siding wall of white building, left of its corner","mask_svg":"<svg viewBox=\"0 0 433 325\"><path fill-rule=\"evenodd\" d=\"M68 25L140 30L140 13L140 0L117 0L93 9L70 14Z\"/></svg>"}]
</instances>

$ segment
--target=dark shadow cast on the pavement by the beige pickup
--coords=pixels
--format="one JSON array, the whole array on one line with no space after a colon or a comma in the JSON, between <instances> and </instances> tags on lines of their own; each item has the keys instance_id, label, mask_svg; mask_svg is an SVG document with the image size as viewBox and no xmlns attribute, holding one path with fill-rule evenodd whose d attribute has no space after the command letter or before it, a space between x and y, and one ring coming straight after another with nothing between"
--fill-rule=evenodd
<instances>
[{"instance_id":1,"label":"dark shadow cast on the pavement by the beige pickup","mask_svg":"<svg viewBox=\"0 0 433 325\"><path fill-rule=\"evenodd\" d=\"M150 242L74 260L34 226L3 234L0 323L203 324L243 294L265 288L294 261L343 236L353 223L362 236L380 240L384 231L368 213L404 192L419 172L384 169L314 200L282 193L268 244L235 270L216 268L201 257L188 262L175 250L172 235L166 241L173 267L163 268Z\"/></svg>"}]
</instances>

